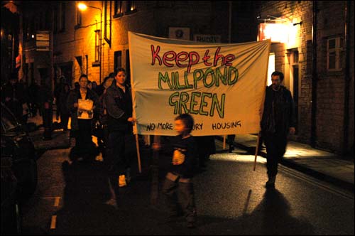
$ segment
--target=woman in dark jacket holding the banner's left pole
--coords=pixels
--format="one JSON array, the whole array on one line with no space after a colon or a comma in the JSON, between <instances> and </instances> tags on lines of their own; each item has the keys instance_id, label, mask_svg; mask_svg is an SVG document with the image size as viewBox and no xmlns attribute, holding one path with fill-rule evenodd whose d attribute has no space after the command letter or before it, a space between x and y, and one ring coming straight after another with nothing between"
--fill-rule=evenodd
<instances>
[{"instance_id":1,"label":"woman in dark jacket holding the banner's left pole","mask_svg":"<svg viewBox=\"0 0 355 236\"><path fill-rule=\"evenodd\" d=\"M131 89L126 85L126 70L115 70L115 80L104 95L109 128L108 163L109 176L114 188L124 187L130 181L130 160L126 154L125 136L132 133ZM116 182L118 181L118 182ZM116 189L116 188L115 188Z\"/></svg>"}]
</instances>

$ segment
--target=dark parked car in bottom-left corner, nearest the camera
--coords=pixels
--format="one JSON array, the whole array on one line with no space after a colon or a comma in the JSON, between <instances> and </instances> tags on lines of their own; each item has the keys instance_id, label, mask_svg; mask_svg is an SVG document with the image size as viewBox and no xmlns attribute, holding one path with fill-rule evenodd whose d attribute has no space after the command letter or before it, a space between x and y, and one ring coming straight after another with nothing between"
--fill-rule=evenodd
<instances>
[{"instance_id":1,"label":"dark parked car in bottom-left corner, nearest the camera","mask_svg":"<svg viewBox=\"0 0 355 236\"><path fill-rule=\"evenodd\" d=\"M11 168L11 157L1 157L1 235L20 235L22 229L17 179Z\"/></svg>"}]
</instances>

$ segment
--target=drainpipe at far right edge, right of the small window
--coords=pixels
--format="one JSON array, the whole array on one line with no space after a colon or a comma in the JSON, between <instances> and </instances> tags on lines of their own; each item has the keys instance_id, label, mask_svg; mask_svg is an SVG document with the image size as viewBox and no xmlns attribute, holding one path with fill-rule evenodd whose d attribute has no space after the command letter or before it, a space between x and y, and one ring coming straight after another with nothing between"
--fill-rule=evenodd
<instances>
[{"instance_id":1,"label":"drainpipe at far right edge, right of the small window","mask_svg":"<svg viewBox=\"0 0 355 236\"><path fill-rule=\"evenodd\" d=\"M346 154L349 146L349 87L350 87L350 8L351 1L345 3L345 87L344 87L344 124L342 154Z\"/></svg>"}]
</instances>

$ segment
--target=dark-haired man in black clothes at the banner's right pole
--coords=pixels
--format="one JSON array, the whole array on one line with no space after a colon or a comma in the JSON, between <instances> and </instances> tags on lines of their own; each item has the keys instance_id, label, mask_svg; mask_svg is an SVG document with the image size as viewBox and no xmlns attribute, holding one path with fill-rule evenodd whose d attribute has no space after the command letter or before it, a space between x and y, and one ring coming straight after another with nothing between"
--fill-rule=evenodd
<instances>
[{"instance_id":1,"label":"dark-haired man in black clothes at the banner's right pole","mask_svg":"<svg viewBox=\"0 0 355 236\"><path fill-rule=\"evenodd\" d=\"M275 187L278 162L286 151L288 134L295 134L295 107L290 90L281 85L283 73L271 74L272 84L266 87L261 132L266 145L266 167L268 181L266 188Z\"/></svg>"}]
</instances>

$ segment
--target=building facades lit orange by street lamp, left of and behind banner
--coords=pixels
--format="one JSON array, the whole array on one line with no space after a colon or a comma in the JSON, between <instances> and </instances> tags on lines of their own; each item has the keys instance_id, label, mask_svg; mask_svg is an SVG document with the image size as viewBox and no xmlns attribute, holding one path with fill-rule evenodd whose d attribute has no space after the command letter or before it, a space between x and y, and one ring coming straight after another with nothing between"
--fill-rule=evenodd
<instances>
[{"instance_id":1,"label":"building facades lit orange by street lamp, left of and behind banner","mask_svg":"<svg viewBox=\"0 0 355 236\"><path fill-rule=\"evenodd\" d=\"M50 23L38 23L32 32L28 32L31 27L24 24L24 31L27 32L24 36L35 35L38 31L53 32L52 56L43 52L44 56L38 55L38 50L31 55L27 53L28 74L32 71L31 60L39 62L44 59L46 63L53 63L52 72L48 67L41 73L33 71L35 80L49 76L54 77L55 81L62 78L72 85L80 74L85 73L89 80L99 84L114 68L122 67L129 73L129 31L208 43L256 40L257 21L253 17L256 2L84 1L87 5L85 11L78 8L80 1L29 3L25 3L28 9L23 13L25 22L43 22L45 19ZM38 12L38 9L45 9L45 12ZM249 23L253 21L242 35L237 33L237 27L243 27L232 16L238 16L239 12L248 14L244 20ZM38 43L36 37L28 38L26 50L35 43ZM33 65L33 68L41 68L42 64Z\"/></svg>"}]
</instances>

